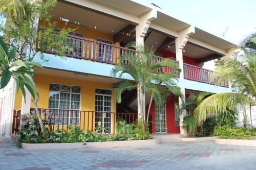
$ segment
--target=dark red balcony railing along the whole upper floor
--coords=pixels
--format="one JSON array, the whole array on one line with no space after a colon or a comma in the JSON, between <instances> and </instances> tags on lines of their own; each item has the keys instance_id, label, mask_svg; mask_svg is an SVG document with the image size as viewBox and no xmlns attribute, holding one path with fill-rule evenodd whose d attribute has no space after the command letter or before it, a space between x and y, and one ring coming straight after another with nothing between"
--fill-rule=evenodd
<instances>
[{"instance_id":1,"label":"dark red balcony railing along the whole upper floor","mask_svg":"<svg viewBox=\"0 0 256 170\"><path fill-rule=\"evenodd\" d=\"M72 49L71 53L66 53L67 57L90 60L93 62L107 63L112 65L117 65L119 62L119 57L126 52L135 53L138 55L138 52L133 49L104 43L101 41L96 41L93 39L87 39L83 37L78 37L74 35L68 35L69 44L67 45L67 49ZM38 44L40 46L40 44ZM54 54L54 48L49 52L50 54ZM155 56L154 62L158 62L165 59L164 57ZM179 64L177 61L174 61L177 65ZM210 77L213 74L213 71L197 67L194 65L190 65L187 63L183 64L184 68L184 79L197 81L201 83L208 83L212 85L216 85L218 78L212 80L210 82ZM173 68L162 67L157 71L164 72L173 72L177 77L179 74L174 71ZM221 83L222 87L228 87L228 81L223 81Z\"/></svg>"}]
</instances>

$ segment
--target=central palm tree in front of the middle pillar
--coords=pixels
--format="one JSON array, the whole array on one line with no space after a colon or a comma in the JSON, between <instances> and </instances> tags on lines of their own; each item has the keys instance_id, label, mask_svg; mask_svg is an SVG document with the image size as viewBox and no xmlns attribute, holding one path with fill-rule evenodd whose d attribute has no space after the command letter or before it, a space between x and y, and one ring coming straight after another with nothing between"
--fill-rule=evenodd
<instances>
[{"instance_id":1,"label":"central palm tree in front of the middle pillar","mask_svg":"<svg viewBox=\"0 0 256 170\"><path fill-rule=\"evenodd\" d=\"M149 52L140 44L132 42L127 44L126 47L136 48L139 56L134 52L122 54L119 58L118 65L111 71L112 77L121 78L123 74L129 74L134 79L134 81L124 80L114 87L117 102L121 103L121 94L123 91L137 89L140 113L141 117L144 117L145 94L151 95L150 106L153 99L157 104L163 103L167 96L167 90L169 93L180 95L175 74L173 72L158 72L157 70L162 67L171 67L179 73L180 69L171 59L156 61L154 53ZM161 86L161 84L165 86Z\"/></svg>"}]
</instances>

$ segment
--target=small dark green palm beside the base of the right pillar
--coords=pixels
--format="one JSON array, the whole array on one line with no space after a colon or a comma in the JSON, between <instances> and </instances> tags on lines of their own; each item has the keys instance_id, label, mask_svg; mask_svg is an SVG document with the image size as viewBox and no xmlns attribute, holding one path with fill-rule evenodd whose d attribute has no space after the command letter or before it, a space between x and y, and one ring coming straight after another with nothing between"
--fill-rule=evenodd
<instances>
[{"instance_id":1,"label":"small dark green palm beside the base of the right pillar","mask_svg":"<svg viewBox=\"0 0 256 170\"><path fill-rule=\"evenodd\" d=\"M195 109L200 105L200 103L211 95L209 92L201 92L199 94L190 93L187 99L182 100L182 106L180 108L180 113L183 110L186 110L187 113L190 113L184 117L183 120L183 129L188 128L188 132L191 136L195 136L195 131L199 124L194 116Z\"/></svg>"}]
</instances>

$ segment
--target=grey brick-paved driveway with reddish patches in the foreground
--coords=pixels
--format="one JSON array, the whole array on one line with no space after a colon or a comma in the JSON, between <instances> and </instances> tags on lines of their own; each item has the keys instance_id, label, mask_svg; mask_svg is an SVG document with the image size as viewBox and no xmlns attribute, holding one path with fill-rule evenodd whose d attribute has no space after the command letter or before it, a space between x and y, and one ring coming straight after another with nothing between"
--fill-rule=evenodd
<instances>
[{"instance_id":1,"label":"grey brick-paved driveway with reddish patches in the foreground","mask_svg":"<svg viewBox=\"0 0 256 170\"><path fill-rule=\"evenodd\" d=\"M23 150L0 140L0 169L256 169L256 147L174 141L154 146Z\"/></svg>"}]
</instances>

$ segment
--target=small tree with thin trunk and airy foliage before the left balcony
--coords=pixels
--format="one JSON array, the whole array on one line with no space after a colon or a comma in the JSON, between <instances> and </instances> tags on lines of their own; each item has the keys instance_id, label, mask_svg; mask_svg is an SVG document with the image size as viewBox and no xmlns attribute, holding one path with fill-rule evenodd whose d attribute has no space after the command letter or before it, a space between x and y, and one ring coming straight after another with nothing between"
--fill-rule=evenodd
<instances>
[{"instance_id":1,"label":"small tree with thin trunk and airy foliage before the left balcony","mask_svg":"<svg viewBox=\"0 0 256 170\"><path fill-rule=\"evenodd\" d=\"M65 57L65 53L70 53L72 47L67 49L67 44L70 44L68 33L73 32L72 29L63 28L59 34L54 33L56 22L52 21L52 15L48 11L57 3L56 0L41 0L25 1L25 15L18 15L6 21L5 26L1 26L0 31L3 32L3 37L11 47L17 48L16 60L31 62L39 55L42 62L48 60L44 57L44 53L54 50L55 56ZM40 20L41 28L38 30L38 20ZM71 44L72 46L72 44ZM34 81L33 74L31 80ZM41 115L37 106L39 93L36 85L34 85L35 97L32 100L36 114L40 123L42 133L45 135L42 124Z\"/></svg>"}]
</instances>

